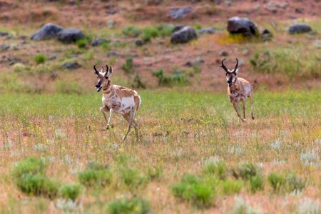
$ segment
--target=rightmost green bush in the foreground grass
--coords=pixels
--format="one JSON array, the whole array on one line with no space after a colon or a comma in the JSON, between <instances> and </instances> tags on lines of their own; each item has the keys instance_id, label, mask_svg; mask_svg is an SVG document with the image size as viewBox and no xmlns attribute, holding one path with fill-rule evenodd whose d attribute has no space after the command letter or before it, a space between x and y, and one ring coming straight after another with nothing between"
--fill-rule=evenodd
<instances>
[{"instance_id":1,"label":"rightmost green bush in the foreground grass","mask_svg":"<svg viewBox=\"0 0 321 214\"><path fill-rule=\"evenodd\" d=\"M285 173L271 172L267 180L275 192L295 191L295 193L297 193L305 188L305 181L302 180L302 178L298 178L294 172L287 173L287 175Z\"/></svg>"}]
</instances>

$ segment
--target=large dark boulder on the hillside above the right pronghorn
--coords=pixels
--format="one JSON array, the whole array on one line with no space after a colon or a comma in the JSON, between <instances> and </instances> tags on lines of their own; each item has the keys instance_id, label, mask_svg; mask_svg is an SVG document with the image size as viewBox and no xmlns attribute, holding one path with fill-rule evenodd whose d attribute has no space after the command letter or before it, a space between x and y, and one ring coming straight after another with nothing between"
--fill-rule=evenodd
<instances>
[{"instance_id":1,"label":"large dark boulder on the hillside above the right pronghorn","mask_svg":"<svg viewBox=\"0 0 321 214\"><path fill-rule=\"evenodd\" d=\"M234 16L228 19L228 32L242 34L243 36L258 36L258 28L248 18Z\"/></svg>"}]
</instances>

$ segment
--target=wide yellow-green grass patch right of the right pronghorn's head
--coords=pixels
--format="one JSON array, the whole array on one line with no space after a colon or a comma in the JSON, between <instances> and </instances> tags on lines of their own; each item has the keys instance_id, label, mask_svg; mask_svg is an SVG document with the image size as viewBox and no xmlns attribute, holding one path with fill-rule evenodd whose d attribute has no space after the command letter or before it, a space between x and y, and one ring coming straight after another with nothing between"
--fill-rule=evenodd
<instances>
[{"instance_id":1,"label":"wide yellow-green grass patch right of the right pronghorn's head","mask_svg":"<svg viewBox=\"0 0 321 214\"><path fill-rule=\"evenodd\" d=\"M282 73L290 78L318 78L321 76L318 57L312 51L279 48L255 52L250 64L255 72Z\"/></svg>"}]
</instances>

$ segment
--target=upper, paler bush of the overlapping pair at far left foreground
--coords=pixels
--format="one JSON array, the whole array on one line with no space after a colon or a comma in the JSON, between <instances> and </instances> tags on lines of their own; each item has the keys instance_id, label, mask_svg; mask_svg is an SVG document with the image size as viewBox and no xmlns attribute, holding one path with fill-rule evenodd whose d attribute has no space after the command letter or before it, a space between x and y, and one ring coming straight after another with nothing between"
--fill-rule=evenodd
<instances>
[{"instance_id":1,"label":"upper, paler bush of the overlapping pair at far left foreground","mask_svg":"<svg viewBox=\"0 0 321 214\"><path fill-rule=\"evenodd\" d=\"M43 174L48 164L43 158L27 158L14 164L11 175L14 179L21 179L22 175Z\"/></svg>"}]
</instances>

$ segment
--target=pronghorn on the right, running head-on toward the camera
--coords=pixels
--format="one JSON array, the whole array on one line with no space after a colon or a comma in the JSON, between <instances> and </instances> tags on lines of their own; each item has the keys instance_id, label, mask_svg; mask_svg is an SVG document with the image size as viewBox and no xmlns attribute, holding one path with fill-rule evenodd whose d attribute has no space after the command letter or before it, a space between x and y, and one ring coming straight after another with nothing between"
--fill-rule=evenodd
<instances>
[{"instance_id":1,"label":"pronghorn on the right, running head-on toward the camera","mask_svg":"<svg viewBox=\"0 0 321 214\"><path fill-rule=\"evenodd\" d=\"M239 118L245 122L245 103L246 98L250 98L251 102L251 116L254 120L253 115L253 87L252 85L246 81L244 78L238 77L238 58L236 59L236 66L233 71L230 71L228 68L225 67L224 61L226 58L223 59L221 67L226 72L226 81L228 81L228 98L230 98L230 102L233 104L236 113L238 113ZM243 116L240 116L240 108L238 103L243 102Z\"/></svg>"}]
</instances>

